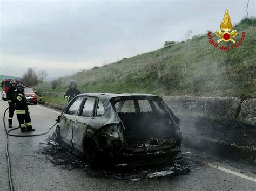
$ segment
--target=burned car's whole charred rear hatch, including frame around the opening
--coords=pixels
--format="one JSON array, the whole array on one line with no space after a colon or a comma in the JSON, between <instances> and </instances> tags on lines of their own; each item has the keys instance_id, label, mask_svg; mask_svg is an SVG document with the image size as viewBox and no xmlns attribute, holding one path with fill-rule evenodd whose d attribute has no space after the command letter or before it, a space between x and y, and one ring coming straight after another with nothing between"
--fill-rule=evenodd
<instances>
[{"instance_id":1,"label":"burned car's whole charred rear hatch, including frame around the opening","mask_svg":"<svg viewBox=\"0 0 256 191\"><path fill-rule=\"evenodd\" d=\"M161 97L122 96L113 98L111 103L124 126L124 146L130 151L127 154L160 155L180 151L178 121L174 121L176 117Z\"/></svg>"}]
</instances>

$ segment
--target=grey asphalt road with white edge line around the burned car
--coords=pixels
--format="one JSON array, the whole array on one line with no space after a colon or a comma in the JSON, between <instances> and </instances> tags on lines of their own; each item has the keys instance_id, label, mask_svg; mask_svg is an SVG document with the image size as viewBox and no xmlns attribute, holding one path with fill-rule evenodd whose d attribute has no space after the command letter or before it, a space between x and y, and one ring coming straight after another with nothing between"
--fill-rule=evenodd
<instances>
[{"instance_id":1,"label":"grey asphalt road with white edge line around the burned car","mask_svg":"<svg viewBox=\"0 0 256 191\"><path fill-rule=\"evenodd\" d=\"M8 190L8 169L5 155L5 131L3 127L4 110L8 102L0 101L0 190ZM32 133L42 133L55 123L58 116L56 110L29 105ZM7 123L8 116L6 116ZM18 126L14 117L14 125ZM53 130L49 135L52 135ZM14 134L21 134L18 130ZM23 135L23 134L22 134ZM215 157L200 151L183 148L183 162L190 166L189 173L165 176L157 179L138 179L133 181L117 176L98 176L86 166L67 167L58 165L52 159L61 155L45 155L49 145L44 144L49 135L39 137L9 137L9 154L11 160L12 181L15 190L82 190L82 189L140 189L140 190L256 190L256 167L245 161L231 161ZM52 149L57 147L51 147ZM188 153L187 153L188 152ZM63 152L64 153L64 152ZM62 154L63 154L62 153ZM186 153L186 154L185 154ZM70 159L76 159L72 154ZM61 161L61 159L58 159ZM74 164L77 160L71 160ZM149 167L150 168L150 167ZM156 172L158 169L154 167ZM134 172L140 174L140 170ZM160 169L159 169L160 171ZM100 172L100 171L97 171ZM106 170L102 171L106 173ZM103 174L104 174L103 173ZM122 172L125 176L125 172ZM135 173L135 174L136 174ZM145 172L144 172L145 173ZM98 173L100 174L100 173ZM111 171L110 173L111 174ZM134 175L134 173L133 173ZM124 177L123 176L123 177ZM129 173L127 174L129 176ZM136 177L136 176L134 176Z\"/></svg>"}]
</instances>

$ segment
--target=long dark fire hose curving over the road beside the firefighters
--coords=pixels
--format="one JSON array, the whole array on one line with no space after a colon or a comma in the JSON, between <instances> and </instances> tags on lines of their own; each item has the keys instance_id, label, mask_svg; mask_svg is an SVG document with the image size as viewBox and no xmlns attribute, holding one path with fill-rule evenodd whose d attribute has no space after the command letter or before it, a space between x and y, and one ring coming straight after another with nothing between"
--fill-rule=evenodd
<instances>
[{"instance_id":1,"label":"long dark fire hose curving over the road beside the firefighters","mask_svg":"<svg viewBox=\"0 0 256 191\"><path fill-rule=\"evenodd\" d=\"M58 121L51 126L51 128L48 129L48 131L44 132L44 133L39 133L39 134L33 134L33 135L12 135L10 134L9 132L13 131L13 130L16 130L19 128L19 126L17 128L14 128L14 129L11 129L11 130L7 130L6 129L6 126L5 126L5 121L4 121L4 118L5 118L5 114L6 114L6 111L9 109L6 108L6 110L4 111L4 117L3 117L3 122L4 122L4 129L5 129L5 135L6 135L6 157L7 157L7 162L8 162L8 178L9 178L9 186L10 186L10 190L14 190L14 186L12 184L12 178L11 178L11 162L10 162L10 157L9 157L9 146L8 146L8 136L13 136L13 137L35 137L35 136L41 136L41 135L45 135L47 133L50 132L50 130L58 123Z\"/></svg>"}]
</instances>

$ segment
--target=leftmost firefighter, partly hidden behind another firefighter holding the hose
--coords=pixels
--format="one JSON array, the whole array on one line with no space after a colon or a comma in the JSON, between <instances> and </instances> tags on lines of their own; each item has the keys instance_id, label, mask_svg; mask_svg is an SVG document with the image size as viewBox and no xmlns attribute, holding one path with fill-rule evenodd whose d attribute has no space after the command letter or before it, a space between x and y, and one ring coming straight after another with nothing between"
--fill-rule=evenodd
<instances>
[{"instance_id":1,"label":"leftmost firefighter, partly hidden behind another firefighter holding the hose","mask_svg":"<svg viewBox=\"0 0 256 191\"><path fill-rule=\"evenodd\" d=\"M11 86L7 91L6 97L9 103L9 117L8 117L8 123L9 128L12 128L12 117L14 117L14 110L15 110L15 100L14 100L14 94L16 90L16 80L11 80Z\"/></svg>"}]
</instances>

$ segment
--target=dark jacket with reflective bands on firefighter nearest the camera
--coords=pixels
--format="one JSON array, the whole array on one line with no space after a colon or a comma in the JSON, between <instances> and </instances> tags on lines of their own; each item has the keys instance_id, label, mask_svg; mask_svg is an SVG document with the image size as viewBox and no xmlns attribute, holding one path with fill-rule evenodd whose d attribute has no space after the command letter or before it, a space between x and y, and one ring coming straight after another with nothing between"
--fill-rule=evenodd
<instances>
[{"instance_id":1,"label":"dark jacket with reflective bands on firefighter nearest the camera","mask_svg":"<svg viewBox=\"0 0 256 191\"><path fill-rule=\"evenodd\" d=\"M26 97L24 93L17 91L14 94L15 98L15 114L26 114L26 111L29 112L28 105L26 104Z\"/></svg>"}]
</instances>

